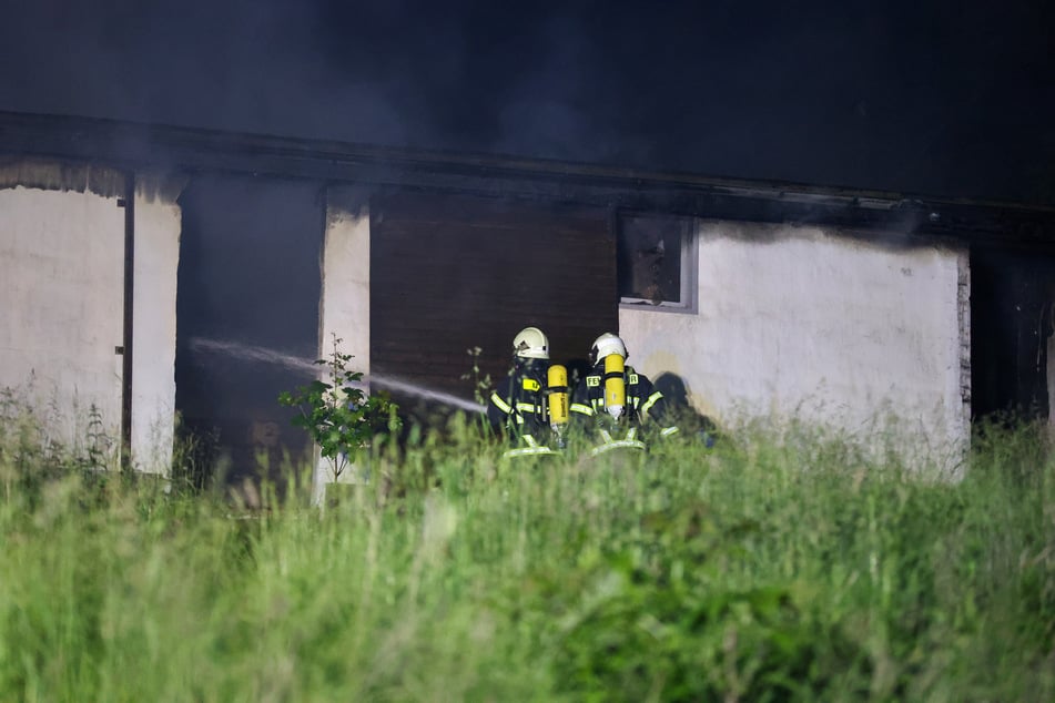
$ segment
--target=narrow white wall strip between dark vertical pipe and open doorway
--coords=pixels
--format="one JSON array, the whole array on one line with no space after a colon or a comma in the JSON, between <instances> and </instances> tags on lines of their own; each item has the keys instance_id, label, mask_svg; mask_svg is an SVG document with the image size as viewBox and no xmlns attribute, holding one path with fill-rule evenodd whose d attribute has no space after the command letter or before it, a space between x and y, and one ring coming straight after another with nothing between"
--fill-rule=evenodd
<instances>
[{"instance_id":1,"label":"narrow white wall strip between dark vertical pipe and open doorway","mask_svg":"<svg viewBox=\"0 0 1055 703\"><path fill-rule=\"evenodd\" d=\"M168 473L175 424L176 269L182 217L175 193L138 184L132 300L132 460Z\"/></svg>"}]
</instances>

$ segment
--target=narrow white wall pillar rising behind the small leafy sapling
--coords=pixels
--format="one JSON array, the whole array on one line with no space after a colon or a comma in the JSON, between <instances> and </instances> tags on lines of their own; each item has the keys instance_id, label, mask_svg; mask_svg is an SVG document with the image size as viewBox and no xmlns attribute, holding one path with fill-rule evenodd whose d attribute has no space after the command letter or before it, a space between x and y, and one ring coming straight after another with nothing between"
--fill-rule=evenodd
<instances>
[{"instance_id":1,"label":"narrow white wall pillar rising behind the small leafy sapling","mask_svg":"<svg viewBox=\"0 0 1055 703\"><path fill-rule=\"evenodd\" d=\"M352 368L369 374L369 206L358 191L332 189L327 195L326 237L323 245L323 292L319 314L319 358L339 348L352 354ZM316 461L313 492L316 502L329 481L329 463ZM342 480L356 478L348 469Z\"/></svg>"}]
</instances>

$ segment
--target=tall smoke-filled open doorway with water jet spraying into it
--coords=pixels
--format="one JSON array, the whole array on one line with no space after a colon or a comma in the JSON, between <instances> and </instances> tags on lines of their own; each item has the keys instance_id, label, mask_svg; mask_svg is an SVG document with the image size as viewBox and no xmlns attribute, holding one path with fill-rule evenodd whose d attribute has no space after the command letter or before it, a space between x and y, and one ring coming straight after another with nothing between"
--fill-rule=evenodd
<instances>
[{"instance_id":1,"label":"tall smoke-filled open doorway with water jet spraying into it","mask_svg":"<svg viewBox=\"0 0 1055 703\"><path fill-rule=\"evenodd\" d=\"M199 176L183 192L176 298L176 410L202 456L194 476L271 478L311 445L277 396L318 355L318 185ZM266 467L266 468L265 468Z\"/></svg>"}]
</instances>

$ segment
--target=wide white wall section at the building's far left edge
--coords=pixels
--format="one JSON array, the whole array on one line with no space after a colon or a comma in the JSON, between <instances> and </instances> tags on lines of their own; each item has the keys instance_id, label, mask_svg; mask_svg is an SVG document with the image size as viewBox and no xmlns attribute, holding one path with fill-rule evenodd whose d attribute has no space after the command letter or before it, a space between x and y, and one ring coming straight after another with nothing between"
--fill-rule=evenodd
<instances>
[{"instance_id":1,"label":"wide white wall section at the building's far left edge","mask_svg":"<svg viewBox=\"0 0 1055 703\"><path fill-rule=\"evenodd\" d=\"M91 192L0 190L0 387L83 446L89 409L121 436L124 211Z\"/></svg>"}]
</instances>

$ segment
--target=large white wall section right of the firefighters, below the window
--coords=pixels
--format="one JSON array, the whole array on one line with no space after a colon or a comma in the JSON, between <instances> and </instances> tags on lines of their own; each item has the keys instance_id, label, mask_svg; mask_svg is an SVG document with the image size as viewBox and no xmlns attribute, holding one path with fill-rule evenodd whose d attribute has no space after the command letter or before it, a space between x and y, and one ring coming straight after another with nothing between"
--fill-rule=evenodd
<instances>
[{"instance_id":1,"label":"large white wall section right of the firefighters, below the window","mask_svg":"<svg viewBox=\"0 0 1055 703\"><path fill-rule=\"evenodd\" d=\"M696 409L727 425L797 418L873 445L893 431L907 457L958 460L964 252L704 221L698 265L698 314L620 309L639 370L678 375Z\"/></svg>"}]
</instances>

